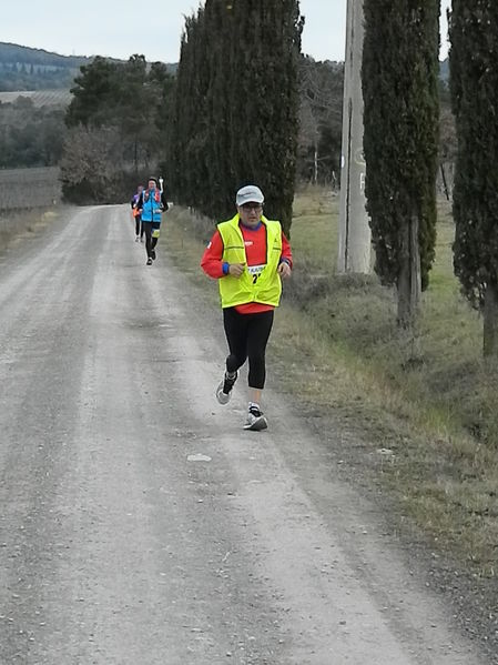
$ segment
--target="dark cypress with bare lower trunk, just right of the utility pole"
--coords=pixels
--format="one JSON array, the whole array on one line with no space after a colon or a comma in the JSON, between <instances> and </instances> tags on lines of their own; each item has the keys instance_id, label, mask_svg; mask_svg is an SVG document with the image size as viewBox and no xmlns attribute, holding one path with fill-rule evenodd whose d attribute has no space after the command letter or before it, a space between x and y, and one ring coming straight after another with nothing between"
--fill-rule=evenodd
<instances>
[{"instance_id":1,"label":"dark cypress with bare lower trunk, just right of the utility pole","mask_svg":"<svg viewBox=\"0 0 498 665\"><path fill-rule=\"evenodd\" d=\"M436 241L439 0L365 0L366 197L375 270L416 321Z\"/></svg>"}]
</instances>

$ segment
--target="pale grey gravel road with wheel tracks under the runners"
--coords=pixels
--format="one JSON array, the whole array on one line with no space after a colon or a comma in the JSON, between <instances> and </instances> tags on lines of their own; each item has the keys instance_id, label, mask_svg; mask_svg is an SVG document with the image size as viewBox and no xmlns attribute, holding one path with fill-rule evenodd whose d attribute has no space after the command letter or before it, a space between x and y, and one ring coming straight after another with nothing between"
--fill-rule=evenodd
<instances>
[{"instance_id":1,"label":"pale grey gravel road with wheel tracks under the runners","mask_svg":"<svg viewBox=\"0 0 498 665\"><path fill-rule=\"evenodd\" d=\"M80 209L0 261L0 662L484 663L292 405L215 402L220 312L133 236Z\"/></svg>"}]
</instances>

